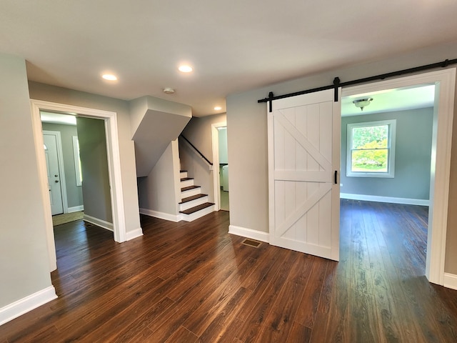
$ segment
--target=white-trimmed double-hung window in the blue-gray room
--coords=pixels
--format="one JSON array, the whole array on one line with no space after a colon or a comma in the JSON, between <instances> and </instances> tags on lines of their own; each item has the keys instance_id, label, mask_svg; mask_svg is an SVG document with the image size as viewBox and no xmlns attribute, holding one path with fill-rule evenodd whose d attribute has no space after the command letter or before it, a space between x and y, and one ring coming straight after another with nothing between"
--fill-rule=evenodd
<instances>
[{"instance_id":1,"label":"white-trimmed double-hung window in the blue-gray room","mask_svg":"<svg viewBox=\"0 0 457 343\"><path fill-rule=\"evenodd\" d=\"M396 119L348 124L347 177L393 177Z\"/></svg>"}]
</instances>

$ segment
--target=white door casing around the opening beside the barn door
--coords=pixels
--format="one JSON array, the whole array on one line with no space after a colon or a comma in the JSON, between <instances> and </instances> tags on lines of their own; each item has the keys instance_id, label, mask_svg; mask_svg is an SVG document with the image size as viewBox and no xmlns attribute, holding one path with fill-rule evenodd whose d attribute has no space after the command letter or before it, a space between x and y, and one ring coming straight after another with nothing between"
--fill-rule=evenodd
<instances>
[{"instance_id":1,"label":"white door casing around the opening beside the barn door","mask_svg":"<svg viewBox=\"0 0 457 343\"><path fill-rule=\"evenodd\" d=\"M383 94L391 89L411 89L423 85L434 86L425 274L430 282L441 285L444 282L455 76L456 69L446 69L348 87L342 90L343 98L348 96L370 97L370 94L373 97L373 94Z\"/></svg>"}]
</instances>

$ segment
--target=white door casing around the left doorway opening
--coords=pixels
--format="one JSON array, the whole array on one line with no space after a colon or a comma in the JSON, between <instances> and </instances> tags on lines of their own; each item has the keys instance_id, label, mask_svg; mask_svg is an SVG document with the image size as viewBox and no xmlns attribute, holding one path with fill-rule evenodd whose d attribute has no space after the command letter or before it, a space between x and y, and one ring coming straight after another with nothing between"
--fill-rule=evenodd
<instances>
[{"instance_id":1,"label":"white door casing around the left doorway opening","mask_svg":"<svg viewBox=\"0 0 457 343\"><path fill-rule=\"evenodd\" d=\"M116 242L126 241L126 227L124 214L124 198L121 182L121 162L119 156L119 139L117 130L117 114L111 111L89 109L80 106L57 104L49 101L31 100L32 125L34 130L34 141L36 159L39 169L41 184L41 197L44 204L46 221L46 238L49 247L50 270L56 269L56 249L54 244L54 228L52 225L51 206L49 204L49 187L46 170L46 158L44 154L44 139L41 131L41 111L57 112L71 116L84 116L94 119L103 119L106 133L106 153L108 159L109 185L112 225L114 240Z\"/></svg>"}]
</instances>

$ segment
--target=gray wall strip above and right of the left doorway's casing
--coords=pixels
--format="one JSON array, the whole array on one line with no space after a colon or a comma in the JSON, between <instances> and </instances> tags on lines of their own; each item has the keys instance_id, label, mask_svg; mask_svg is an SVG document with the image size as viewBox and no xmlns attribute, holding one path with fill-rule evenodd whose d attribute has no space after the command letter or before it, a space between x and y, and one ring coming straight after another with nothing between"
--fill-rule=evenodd
<instances>
[{"instance_id":1,"label":"gray wall strip above and right of the left doorway's casing","mask_svg":"<svg viewBox=\"0 0 457 343\"><path fill-rule=\"evenodd\" d=\"M131 140L129 102L83 91L39 84L33 81L29 81L29 91L31 99L116 112L126 232L139 229L140 217L138 190L136 187L135 151L134 142Z\"/></svg>"}]
</instances>

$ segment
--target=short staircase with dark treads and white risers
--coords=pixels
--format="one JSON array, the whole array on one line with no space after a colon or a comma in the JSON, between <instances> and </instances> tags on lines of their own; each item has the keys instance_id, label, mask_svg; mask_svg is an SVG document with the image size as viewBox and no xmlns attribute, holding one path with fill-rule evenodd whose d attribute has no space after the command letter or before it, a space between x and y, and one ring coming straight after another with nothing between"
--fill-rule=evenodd
<instances>
[{"instance_id":1,"label":"short staircase with dark treads and white risers","mask_svg":"<svg viewBox=\"0 0 457 343\"><path fill-rule=\"evenodd\" d=\"M179 214L182 220L192 222L206 214L214 212L214 203L208 202L208 194L201 194L201 187L194 185L194 179L187 177L187 171L181 170L181 202Z\"/></svg>"}]
</instances>

